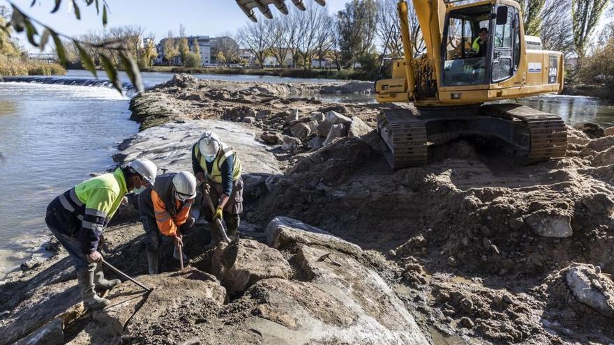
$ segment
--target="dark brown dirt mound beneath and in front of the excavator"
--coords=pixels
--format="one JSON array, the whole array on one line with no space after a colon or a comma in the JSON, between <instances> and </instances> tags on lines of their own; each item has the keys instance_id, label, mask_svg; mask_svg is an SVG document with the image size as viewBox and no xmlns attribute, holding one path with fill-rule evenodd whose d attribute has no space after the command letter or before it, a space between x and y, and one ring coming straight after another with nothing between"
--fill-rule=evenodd
<instances>
[{"instance_id":1,"label":"dark brown dirt mound beneath and in front of the excavator","mask_svg":"<svg viewBox=\"0 0 614 345\"><path fill-rule=\"evenodd\" d=\"M427 305L440 312L426 314L446 332L549 342L555 337L534 323L534 309L548 304L531 282L574 261L614 273L614 137L570 133L562 160L522 166L456 141L437 148L428 166L396 172L368 138L343 139L297 162L250 217L283 212L388 253L399 279L430 291ZM441 274L484 281L463 291ZM513 292L504 297L493 286Z\"/></svg>"}]
</instances>

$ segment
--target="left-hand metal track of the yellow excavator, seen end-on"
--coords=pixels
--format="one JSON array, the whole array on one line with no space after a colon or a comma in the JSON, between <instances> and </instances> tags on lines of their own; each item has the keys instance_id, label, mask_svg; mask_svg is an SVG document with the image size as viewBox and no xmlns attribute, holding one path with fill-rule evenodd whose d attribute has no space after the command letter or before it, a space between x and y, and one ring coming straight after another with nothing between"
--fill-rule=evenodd
<instances>
[{"instance_id":1,"label":"left-hand metal track of the yellow excavator, seen end-on","mask_svg":"<svg viewBox=\"0 0 614 345\"><path fill-rule=\"evenodd\" d=\"M384 153L390 166L402 169L425 165L428 146L424 121L410 109L386 109L382 115L377 129L390 150Z\"/></svg>"}]
</instances>

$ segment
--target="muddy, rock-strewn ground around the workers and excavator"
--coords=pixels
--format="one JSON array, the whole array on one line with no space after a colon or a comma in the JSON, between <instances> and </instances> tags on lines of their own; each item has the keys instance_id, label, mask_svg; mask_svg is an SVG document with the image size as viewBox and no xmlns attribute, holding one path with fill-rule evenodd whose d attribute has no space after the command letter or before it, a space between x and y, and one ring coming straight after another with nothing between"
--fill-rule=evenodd
<instances>
[{"instance_id":1,"label":"muddy, rock-strewn ground around the workers and excavator","mask_svg":"<svg viewBox=\"0 0 614 345\"><path fill-rule=\"evenodd\" d=\"M326 104L276 87L177 77L133 100L144 130L115 157L186 169L189 156L179 151L203 126L248 133L257 148L243 148L246 159L260 157L246 177L241 235L251 241L234 252L204 251L203 228L186 248L193 268L172 273L177 262L167 252L167 273L142 277L182 293L152 294L151 305L142 297L122 302L138 293L122 284L110 296L133 306L116 314L78 307L59 251L0 286L2 339L60 315L63 339L73 344L93 342L92 335L112 339L105 344L614 343L613 130L569 128L566 158L530 166L460 138L433 148L426 167L391 171L370 131L381 105ZM142 229L131 215L125 210L125 224L108 230L108 255L141 275ZM279 216L304 222L281 218L299 235L272 236L283 228L271 223ZM313 231L340 240L313 240ZM332 259L322 259L327 253ZM224 265L229 256L239 259ZM255 258L261 263L241 268ZM48 302L49 312L53 298L64 302ZM49 325L57 332L58 321Z\"/></svg>"}]
</instances>

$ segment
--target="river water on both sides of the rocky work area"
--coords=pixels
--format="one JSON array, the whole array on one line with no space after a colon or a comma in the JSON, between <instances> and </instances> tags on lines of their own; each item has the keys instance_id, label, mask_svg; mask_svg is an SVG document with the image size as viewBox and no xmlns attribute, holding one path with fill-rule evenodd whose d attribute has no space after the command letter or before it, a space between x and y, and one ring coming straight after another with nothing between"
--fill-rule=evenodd
<instances>
[{"instance_id":1,"label":"river water on both sides of the rocky work area","mask_svg":"<svg viewBox=\"0 0 614 345\"><path fill-rule=\"evenodd\" d=\"M172 74L143 73L150 87ZM253 75L195 75L200 79L330 82ZM65 79L91 79L69 71ZM123 75L123 79L126 76ZM93 84L93 83L91 83ZM373 95L322 95L331 102L374 102ZM116 145L138 130L128 98L105 85L0 83L0 280L31 255L44 256L45 208L57 194L114 166ZM614 107L594 98L543 96L523 103L560 114L567 123L614 124Z\"/></svg>"}]
</instances>

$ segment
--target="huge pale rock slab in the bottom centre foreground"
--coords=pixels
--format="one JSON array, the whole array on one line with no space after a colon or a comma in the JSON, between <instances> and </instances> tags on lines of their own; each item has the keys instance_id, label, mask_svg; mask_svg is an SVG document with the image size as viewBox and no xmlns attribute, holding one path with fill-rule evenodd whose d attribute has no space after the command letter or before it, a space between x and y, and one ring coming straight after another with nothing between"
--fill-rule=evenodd
<instances>
[{"instance_id":1,"label":"huge pale rock slab in the bottom centre foreground","mask_svg":"<svg viewBox=\"0 0 614 345\"><path fill-rule=\"evenodd\" d=\"M248 326L265 343L429 344L384 279L356 259L356 245L286 217L265 232L300 279L263 279L246 292L262 302Z\"/></svg>"}]
</instances>

